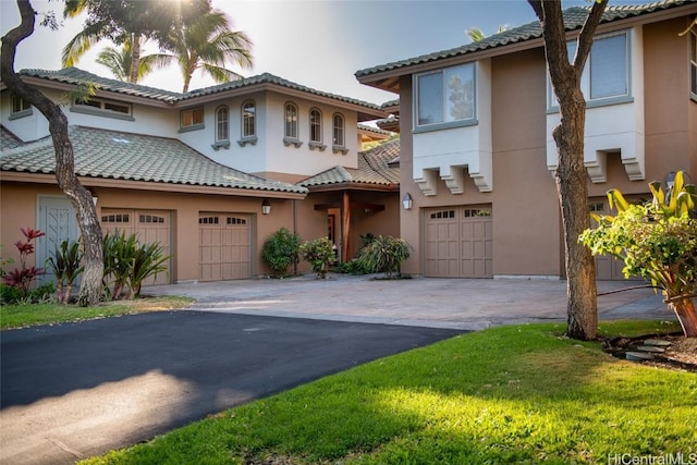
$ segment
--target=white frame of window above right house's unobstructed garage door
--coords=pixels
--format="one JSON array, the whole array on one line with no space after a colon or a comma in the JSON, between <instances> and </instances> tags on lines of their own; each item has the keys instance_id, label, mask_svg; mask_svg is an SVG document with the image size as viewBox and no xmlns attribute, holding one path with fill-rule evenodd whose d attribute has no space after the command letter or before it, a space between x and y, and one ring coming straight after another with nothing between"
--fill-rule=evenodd
<instances>
[{"instance_id":1,"label":"white frame of window above right house's unobstructed garage door","mask_svg":"<svg viewBox=\"0 0 697 465\"><path fill-rule=\"evenodd\" d=\"M472 82L469 84L470 88L467 89L467 94L472 94L472 106L467 111L467 114L463 117L456 117L453 114L449 114L448 110L452 110L452 107L449 103L449 97L452 96L451 93L448 91L448 79L449 76L454 74L468 74L472 76ZM440 77L440 78L439 78ZM420 82L421 79L432 79L436 83L440 84L440 89L436 89L437 94L440 95L442 101L440 102L440 117L436 115L435 121L423 122L419 118L419 109L420 109ZM466 83L465 83L466 85ZM477 63L469 62L458 64L456 66L449 66L437 71L429 71L425 73L419 73L414 75L413 81L413 95L414 95L414 131L433 131L433 130L442 130L449 127L460 127L467 125L477 124ZM440 90L440 91L438 91Z\"/></svg>"}]
</instances>

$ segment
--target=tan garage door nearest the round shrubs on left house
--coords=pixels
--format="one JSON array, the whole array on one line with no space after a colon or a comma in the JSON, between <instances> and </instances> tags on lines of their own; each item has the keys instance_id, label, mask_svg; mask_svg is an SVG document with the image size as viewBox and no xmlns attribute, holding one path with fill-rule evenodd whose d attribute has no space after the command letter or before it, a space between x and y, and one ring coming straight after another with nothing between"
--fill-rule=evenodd
<instances>
[{"instance_id":1,"label":"tan garage door nearest the round shrubs on left house","mask_svg":"<svg viewBox=\"0 0 697 465\"><path fill-rule=\"evenodd\" d=\"M199 279L252 278L252 221L248 215L200 213Z\"/></svg>"}]
</instances>

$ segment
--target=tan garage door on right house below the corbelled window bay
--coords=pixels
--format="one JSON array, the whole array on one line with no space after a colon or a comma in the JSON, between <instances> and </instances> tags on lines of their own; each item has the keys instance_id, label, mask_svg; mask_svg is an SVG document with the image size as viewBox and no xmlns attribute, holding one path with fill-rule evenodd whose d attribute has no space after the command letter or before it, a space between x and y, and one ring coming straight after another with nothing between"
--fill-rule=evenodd
<instances>
[{"instance_id":1,"label":"tan garage door on right house below the corbelled window bay","mask_svg":"<svg viewBox=\"0 0 697 465\"><path fill-rule=\"evenodd\" d=\"M426 276L492 278L490 207L449 207L426 211Z\"/></svg>"}]
</instances>

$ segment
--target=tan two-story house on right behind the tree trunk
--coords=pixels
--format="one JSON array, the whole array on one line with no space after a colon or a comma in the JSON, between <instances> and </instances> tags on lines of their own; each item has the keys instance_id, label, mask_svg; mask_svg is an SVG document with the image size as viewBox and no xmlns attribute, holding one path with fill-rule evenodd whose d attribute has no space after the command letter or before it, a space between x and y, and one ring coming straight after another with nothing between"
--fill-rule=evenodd
<instances>
[{"instance_id":1,"label":"tan two-story house on right behind the tree trunk","mask_svg":"<svg viewBox=\"0 0 697 465\"><path fill-rule=\"evenodd\" d=\"M570 53L588 11L564 11ZM648 183L678 170L697 182L696 16L689 0L608 7L583 76L591 210L608 210L610 188L651 198ZM403 271L564 278L560 117L538 22L356 77L399 95L386 109L399 117L401 197L411 199L401 233L416 249ZM622 264L597 265L599 279L622 279Z\"/></svg>"}]
</instances>

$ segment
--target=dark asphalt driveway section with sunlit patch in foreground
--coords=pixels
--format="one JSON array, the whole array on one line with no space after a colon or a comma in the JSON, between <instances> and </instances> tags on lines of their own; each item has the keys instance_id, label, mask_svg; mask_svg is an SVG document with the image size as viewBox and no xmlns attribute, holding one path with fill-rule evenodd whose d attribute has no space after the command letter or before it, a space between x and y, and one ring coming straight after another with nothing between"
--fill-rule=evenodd
<instances>
[{"instance_id":1,"label":"dark asphalt driveway section with sunlit patch in foreground","mask_svg":"<svg viewBox=\"0 0 697 465\"><path fill-rule=\"evenodd\" d=\"M73 463L460 332L189 310L3 331L0 462Z\"/></svg>"}]
</instances>

